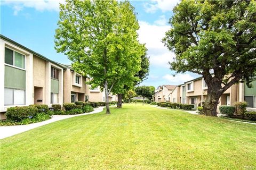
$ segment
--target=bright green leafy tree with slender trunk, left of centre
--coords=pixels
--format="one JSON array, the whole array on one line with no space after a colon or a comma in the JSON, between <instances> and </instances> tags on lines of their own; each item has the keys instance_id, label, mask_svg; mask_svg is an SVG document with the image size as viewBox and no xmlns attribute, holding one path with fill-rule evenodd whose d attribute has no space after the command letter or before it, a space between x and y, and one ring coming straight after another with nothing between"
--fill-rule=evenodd
<instances>
[{"instance_id":1,"label":"bright green leafy tree with slender trunk, left of centre","mask_svg":"<svg viewBox=\"0 0 256 170\"><path fill-rule=\"evenodd\" d=\"M140 70L145 49L138 42L138 29L127 1L67 0L60 5L55 49L68 56L75 71L92 78L92 87L105 89L107 114L113 88L133 82Z\"/></svg>"}]
</instances>

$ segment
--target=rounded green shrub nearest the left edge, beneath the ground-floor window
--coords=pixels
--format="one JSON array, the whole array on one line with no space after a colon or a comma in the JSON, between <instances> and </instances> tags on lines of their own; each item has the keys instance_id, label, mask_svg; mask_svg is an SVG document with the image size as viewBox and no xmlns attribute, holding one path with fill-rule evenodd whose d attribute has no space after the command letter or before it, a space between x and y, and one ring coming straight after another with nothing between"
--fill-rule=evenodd
<instances>
[{"instance_id":1,"label":"rounded green shrub nearest the left edge, beneath the ground-floor window","mask_svg":"<svg viewBox=\"0 0 256 170\"><path fill-rule=\"evenodd\" d=\"M7 120L20 122L25 118L33 118L38 114L38 109L35 106L22 106L7 108Z\"/></svg>"}]
</instances>

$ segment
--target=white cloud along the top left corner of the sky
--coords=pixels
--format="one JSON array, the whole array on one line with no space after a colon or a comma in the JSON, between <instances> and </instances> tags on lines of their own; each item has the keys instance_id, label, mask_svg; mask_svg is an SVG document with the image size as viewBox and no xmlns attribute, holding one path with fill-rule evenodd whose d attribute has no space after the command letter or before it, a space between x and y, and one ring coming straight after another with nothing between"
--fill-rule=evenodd
<instances>
[{"instance_id":1,"label":"white cloud along the top left corner of the sky","mask_svg":"<svg viewBox=\"0 0 256 170\"><path fill-rule=\"evenodd\" d=\"M2 5L12 6L13 14L17 15L25 7L37 11L59 11L59 3L65 3L65 0L3 1Z\"/></svg>"}]
</instances>

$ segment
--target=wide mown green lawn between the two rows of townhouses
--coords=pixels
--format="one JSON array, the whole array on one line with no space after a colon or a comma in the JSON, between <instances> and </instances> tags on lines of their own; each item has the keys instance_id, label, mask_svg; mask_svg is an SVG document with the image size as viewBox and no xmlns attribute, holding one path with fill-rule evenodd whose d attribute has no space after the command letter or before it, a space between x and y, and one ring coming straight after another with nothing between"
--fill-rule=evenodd
<instances>
[{"instance_id":1,"label":"wide mown green lawn between the two rows of townhouses","mask_svg":"<svg viewBox=\"0 0 256 170\"><path fill-rule=\"evenodd\" d=\"M1 140L0 169L245 166L256 168L256 125L138 103L112 108L110 115L68 118Z\"/></svg>"}]
</instances>

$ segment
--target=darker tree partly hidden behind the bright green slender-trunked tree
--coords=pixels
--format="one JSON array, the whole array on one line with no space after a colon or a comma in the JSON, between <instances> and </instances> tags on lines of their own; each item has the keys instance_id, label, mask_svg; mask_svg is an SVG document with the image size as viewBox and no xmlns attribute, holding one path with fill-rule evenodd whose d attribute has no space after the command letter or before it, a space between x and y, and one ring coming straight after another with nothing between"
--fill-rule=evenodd
<instances>
[{"instance_id":1,"label":"darker tree partly hidden behind the bright green slender-trunked tree","mask_svg":"<svg viewBox=\"0 0 256 170\"><path fill-rule=\"evenodd\" d=\"M118 95L118 102L117 102L117 108L122 108L122 98L125 95L125 93L129 90L131 90L134 86L139 85L142 81L146 80L149 73L149 57L147 56L147 48L145 45L143 45L145 48L145 53L141 55L141 63L140 63L140 71L134 75L134 77L138 79L134 79L134 82L131 84L127 84L123 87L123 94L119 92ZM132 85L132 86L131 86Z\"/></svg>"}]
</instances>

